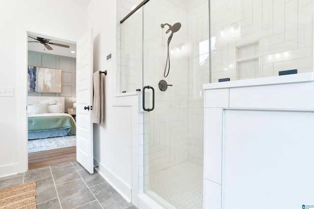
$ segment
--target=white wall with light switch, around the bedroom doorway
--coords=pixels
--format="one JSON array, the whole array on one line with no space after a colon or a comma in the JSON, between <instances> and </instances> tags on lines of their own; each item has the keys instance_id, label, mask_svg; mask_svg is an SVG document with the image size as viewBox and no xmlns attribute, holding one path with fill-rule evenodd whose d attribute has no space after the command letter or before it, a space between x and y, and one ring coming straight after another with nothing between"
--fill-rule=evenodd
<instances>
[{"instance_id":1,"label":"white wall with light switch, around the bedroom doorway","mask_svg":"<svg viewBox=\"0 0 314 209\"><path fill-rule=\"evenodd\" d=\"M0 97L0 176L27 170L26 31L75 42L86 20L86 7L72 0L0 0L0 87L14 88Z\"/></svg>"}]
</instances>

